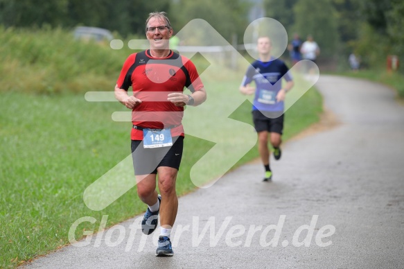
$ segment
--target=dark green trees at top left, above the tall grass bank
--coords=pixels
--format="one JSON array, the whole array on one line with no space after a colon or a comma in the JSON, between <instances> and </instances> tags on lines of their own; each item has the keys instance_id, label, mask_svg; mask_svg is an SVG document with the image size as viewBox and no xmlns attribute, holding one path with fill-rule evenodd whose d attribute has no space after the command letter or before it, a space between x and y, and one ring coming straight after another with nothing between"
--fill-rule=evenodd
<instances>
[{"instance_id":1,"label":"dark green trees at top left, above the tall grass bank","mask_svg":"<svg viewBox=\"0 0 404 269\"><path fill-rule=\"evenodd\" d=\"M6 27L96 26L122 35L144 33L149 12L168 11L170 0L0 0L0 24Z\"/></svg>"}]
</instances>

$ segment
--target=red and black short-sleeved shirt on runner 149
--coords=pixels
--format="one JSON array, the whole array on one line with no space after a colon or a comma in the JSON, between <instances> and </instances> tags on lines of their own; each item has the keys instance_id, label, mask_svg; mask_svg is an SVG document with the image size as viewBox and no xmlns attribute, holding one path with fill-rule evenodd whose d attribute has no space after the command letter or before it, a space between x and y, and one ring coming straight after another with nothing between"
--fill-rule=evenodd
<instances>
[{"instance_id":1,"label":"red and black short-sleeved shirt on runner 149","mask_svg":"<svg viewBox=\"0 0 404 269\"><path fill-rule=\"evenodd\" d=\"M172 128L173 137L184 136L184 107L167 101L168 94L184 92L184 87L191 92L204 87L191 60L173 51L166 58L153 58L150 50L133 53L125 60L116 85L126 91L132 86L133 95L142 101L132 110L134 125ZM132 128L130 137L142 140L143 132Z\"/></svg>"}]
</instances>

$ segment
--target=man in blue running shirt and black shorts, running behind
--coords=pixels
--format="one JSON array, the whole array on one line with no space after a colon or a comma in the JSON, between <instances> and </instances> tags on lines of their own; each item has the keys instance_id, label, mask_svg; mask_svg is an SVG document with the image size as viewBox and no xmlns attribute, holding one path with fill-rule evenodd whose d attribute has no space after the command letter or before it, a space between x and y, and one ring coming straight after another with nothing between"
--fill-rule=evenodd
<instances>
[{"instance_id":1,"label":"man in blue running shirt and black shorts, running behind","mask_svg":"<svg viewBox=\"0 0 404 269\"><path fill-rule=\"evenodd\" d=\"M258 152L265 168L263 181L272 180L270 168L270 149L268 136L274 147L274 159L281 159L281 142L283 132L283 110L286 93L293 87L292 77L286 64L271 56L270 37L263 36L257 40L259 59L247 69L240 85L242 94L255 94L252 106L252 118L258 134ZM282 78L286 80L282 87ZM254 80L255 87L250 86Z\"/></svg>"}]
</instances>

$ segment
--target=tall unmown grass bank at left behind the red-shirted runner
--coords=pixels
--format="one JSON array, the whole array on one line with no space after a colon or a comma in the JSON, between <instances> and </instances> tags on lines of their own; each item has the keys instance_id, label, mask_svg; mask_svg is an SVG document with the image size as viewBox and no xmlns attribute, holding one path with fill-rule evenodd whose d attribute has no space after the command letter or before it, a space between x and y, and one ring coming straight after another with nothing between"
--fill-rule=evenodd
<instances>
[{"instance_id":1,"label":"tall unmown grass bank at left behind the red-shirted runner","mask_svg":"<svg viewBox=\"0 0 404 269\"><path fill-rule=\"evenodd\" d=\"M116 70L133 52L128 47L112 50L107 43L83 44L63 29L0 26L0 40L0 92L55 94L110 89Z\"/></svg>"}]
</instances>

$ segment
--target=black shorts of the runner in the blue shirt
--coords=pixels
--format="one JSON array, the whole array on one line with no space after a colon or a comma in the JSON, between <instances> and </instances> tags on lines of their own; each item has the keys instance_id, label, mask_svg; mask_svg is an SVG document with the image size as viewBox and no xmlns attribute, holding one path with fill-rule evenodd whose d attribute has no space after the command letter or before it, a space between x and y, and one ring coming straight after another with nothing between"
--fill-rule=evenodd
<instances>
[{"instance_id":1,"label":"black shorts of the runner in the blue shirt","mask_svg":"<svg viewBox=\"0 0 404 269\"><path fill-rule=\"evenodd\" d=\"M282 134L283 131L283 112L261 112L252 111L252 119L256 132L276 132Z\"/></svg>"}]
</instances>

